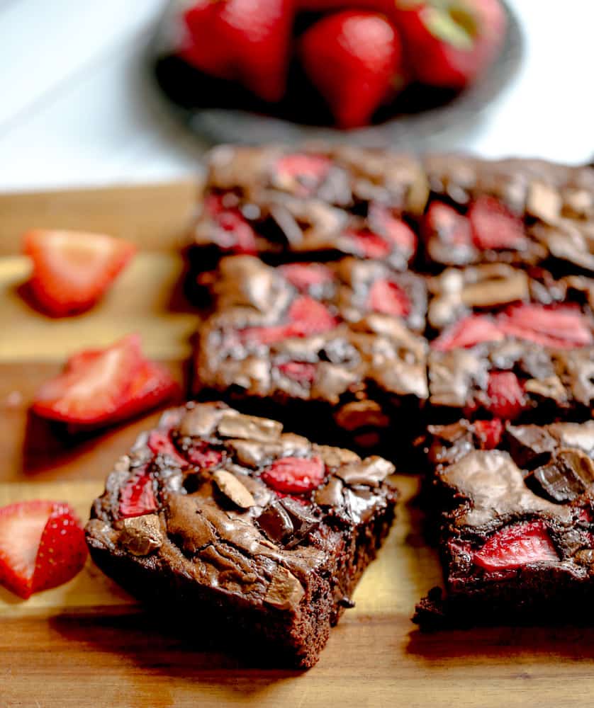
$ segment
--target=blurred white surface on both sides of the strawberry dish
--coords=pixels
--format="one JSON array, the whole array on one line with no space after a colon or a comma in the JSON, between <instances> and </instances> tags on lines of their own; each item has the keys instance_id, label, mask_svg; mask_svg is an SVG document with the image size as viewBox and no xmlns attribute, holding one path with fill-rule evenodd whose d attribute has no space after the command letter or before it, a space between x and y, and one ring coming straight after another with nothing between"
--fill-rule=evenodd
<instances>
[{"instance_id":1,"label":"blurred white surface on both sides of the strawberry dish","mask_svg":"<svg viewBox=\"0 0 594 708\"><path fill-rule=\"evenodd\" d=\"M196 171L201 146L151 100L142 76L164 4L0 0L0 190ZM526 35L522 68L461 147L594 159L594 0L510 4Z\"/></svg>"}]
</instances>

